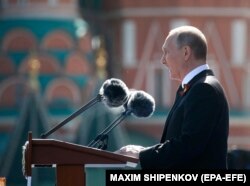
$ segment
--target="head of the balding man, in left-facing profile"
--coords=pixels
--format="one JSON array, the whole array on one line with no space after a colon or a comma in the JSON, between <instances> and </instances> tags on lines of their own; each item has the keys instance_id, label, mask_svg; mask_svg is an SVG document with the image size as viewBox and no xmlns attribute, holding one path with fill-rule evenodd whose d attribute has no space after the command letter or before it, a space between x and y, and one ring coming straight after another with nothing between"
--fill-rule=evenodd
<instances>
[{"instance_id":1,"label":"head of the balding man, in left-facing profile","mask_svg":"<svg viewBox=\"0 0 250 186\"><path fill-rule=\"evenodd\" d=\"M207 41L193 26L171 30L162 46L161 62L170 70L171 78L182 81L195 67L206 63Z\"/></svg>"}]
</instances>

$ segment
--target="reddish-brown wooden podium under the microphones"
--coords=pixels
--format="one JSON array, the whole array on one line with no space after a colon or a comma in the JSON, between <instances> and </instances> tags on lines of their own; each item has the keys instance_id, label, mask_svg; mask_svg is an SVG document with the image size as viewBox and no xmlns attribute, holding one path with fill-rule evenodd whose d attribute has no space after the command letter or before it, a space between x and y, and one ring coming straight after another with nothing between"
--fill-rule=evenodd
<instances>
[{"instance_id":1,"label":"reddish-brown wooden podium under the microphones","mask_svg":"<svg viewBox=\"0 0 250 186\"><path fill-rule=\"evenodd\" d=\"M23 146L23 174L32 176L32 167L55 167L57 186L85 186L85 165L105 167L136 166L138 159L54 139L32 139Z\"/></svg>"}]
</instances>

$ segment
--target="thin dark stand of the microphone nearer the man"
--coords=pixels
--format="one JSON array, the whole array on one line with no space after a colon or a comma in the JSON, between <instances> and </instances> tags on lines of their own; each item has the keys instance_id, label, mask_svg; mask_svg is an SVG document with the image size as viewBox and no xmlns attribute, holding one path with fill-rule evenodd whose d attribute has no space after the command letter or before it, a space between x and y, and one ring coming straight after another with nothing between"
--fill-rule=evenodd
<instances>
[{"instance_id":1,"label":"thin dark stand of the microphone nearer the man","mask_svg":"<svg viewBox=\"0 0 250 186\"><path fill-rule=\"evenodd\" d=\"M106 150L108 146L108 133L121 123L131 111L124 111L117 119L115 119L110 125L108 125L94 140L92 140L88 147L95 147L98 149Z\"/></svg>"}]
</instances>

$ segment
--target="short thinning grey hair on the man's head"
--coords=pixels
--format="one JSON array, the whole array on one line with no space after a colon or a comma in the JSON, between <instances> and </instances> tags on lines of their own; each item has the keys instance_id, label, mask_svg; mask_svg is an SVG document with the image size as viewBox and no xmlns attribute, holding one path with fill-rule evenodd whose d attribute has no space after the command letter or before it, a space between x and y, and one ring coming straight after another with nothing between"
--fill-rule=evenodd
<instances>
[{"instance_id":1,"label":"short thinning grey hair on the man's head","mask_svg":"<svg viewBox=\"0 0 250 186\"><path fill-rule=\"evenodd\" d=\"M189 46L196 59L206 60L207 40L204 34L193 26L181 26L170 31L169 35L176 35L176 45L181 48Z\"/></svg>"}]
</instances>

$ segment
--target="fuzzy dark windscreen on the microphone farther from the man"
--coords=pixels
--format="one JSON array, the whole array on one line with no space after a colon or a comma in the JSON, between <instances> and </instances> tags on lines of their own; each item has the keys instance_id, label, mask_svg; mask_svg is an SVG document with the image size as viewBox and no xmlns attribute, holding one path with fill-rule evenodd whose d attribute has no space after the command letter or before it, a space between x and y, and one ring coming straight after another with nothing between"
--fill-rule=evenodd
<instances>
[{"instance_id":1,"label":"fuzzy dark windscreen on the microphone farther from the man","mask_svg":"<svg viewBox=\"0 0 250 186\"><path fill-rule=\"evenodd\" d=\"M103 83L99 94L103 95L107 106L119 107L127 102L129 89L122 80L111 78Z\"/></svg>"}]
</instances>

